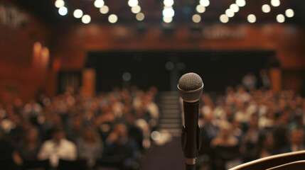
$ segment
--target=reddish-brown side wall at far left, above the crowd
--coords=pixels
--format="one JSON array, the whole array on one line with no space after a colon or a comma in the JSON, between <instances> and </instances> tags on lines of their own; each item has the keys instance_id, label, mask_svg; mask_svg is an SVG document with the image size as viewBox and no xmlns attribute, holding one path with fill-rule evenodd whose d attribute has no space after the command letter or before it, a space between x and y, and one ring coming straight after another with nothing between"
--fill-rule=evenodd
<instances>
[{"instance_id":1,"label":"reddish-brown side wall at far left, above the crowd","mask_svg":"<svg viewBox=\"0 0 305 170\"><path fill-rule=\"evenodd\" d=\"M11 21L0 22L0 101L28 100L45 84L46 70L33 67L33 44L49 46L50 30L46 23L10 1L4 1L1 15L14 13Z\"/></svg>"}]
</instances>

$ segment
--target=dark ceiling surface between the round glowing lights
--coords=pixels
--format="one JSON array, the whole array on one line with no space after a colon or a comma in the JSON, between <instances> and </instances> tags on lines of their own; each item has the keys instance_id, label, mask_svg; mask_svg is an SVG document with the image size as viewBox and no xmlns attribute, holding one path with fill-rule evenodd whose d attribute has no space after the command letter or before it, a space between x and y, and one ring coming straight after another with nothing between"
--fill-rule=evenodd
<instances>
[{"instance_id":1,"label":"dark ceiling surface between the round glowing lights","mask_svg":"<svg viewBox=\"0 0 305 170\"><path fill-rule=\"evenodd\" d=\"M85 14L89 14L92 18L92 23L108 23L107 17L109 14L117 14L118 23L137 23L135 14L131 12L131 8L127 4L127 0L105 0L105 5L109 6L109 13L102 14L98 8L95 8L92 0L65 0L68 14L60 16L58 8L54 6L55 0L12 0L16 1L21 6L33 11L37 16L41 17L47 23L52 25L64 25L72 23L81 23L80 19L73 17L73 11L76 8L82 9ZM173 8L175 16L173 23L188 23L192 22L191 17L196 13L196 5L199 0L175 0ZM240 8L240 11L230 18L229 23L247 22L247 15L254 13L257 16L256 23L277 22L276 16L283 13L287 8L294 9L294 17L286 18L287 23L296 23L305 25L305 1L304 0L280 0L279 7L272 7L270 13L262 12L263 4L270 4L270 0L246 0L246 6ZM235 0L210 0L210 6L206 8L205 13L201 13L201 23L220 23L219 17L225 13L230 4ZM141 12L145 14L144 21L149 23L162 23L163 0L139 0Z\"/></svg>"}]
</instances>

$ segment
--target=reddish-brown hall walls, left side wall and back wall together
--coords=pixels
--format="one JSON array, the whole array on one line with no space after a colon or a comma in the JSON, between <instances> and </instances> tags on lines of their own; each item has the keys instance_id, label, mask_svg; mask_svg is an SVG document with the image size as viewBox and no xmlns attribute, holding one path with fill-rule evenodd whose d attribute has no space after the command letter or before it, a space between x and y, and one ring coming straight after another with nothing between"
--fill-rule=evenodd
<instances>
[{"instance_id":1,"label":"reddish-brown hall walls, left side wall and back wall together","mask_svg":"<svg viewBox=\"0 0 305 170\"><path fill-rule=\"evenodd\" d=\"M283 71L284 87L298 91L305 70L305 29L289 24L215 24L191 31L186 24L164 32L147 25L79 24L50 30L36 16L6 1L25 17L24 28L0 23L0 100L28 100L38 89L57 91L57 71L81 70L86 52L107 50L275 50ZM218 36L219 35L219 36ZM52 38L52 39L51 39ZM50 68L33 67L33 44L50 50ZM247 56L245 56L247 57Z\"/></svg>"}]
</instances>

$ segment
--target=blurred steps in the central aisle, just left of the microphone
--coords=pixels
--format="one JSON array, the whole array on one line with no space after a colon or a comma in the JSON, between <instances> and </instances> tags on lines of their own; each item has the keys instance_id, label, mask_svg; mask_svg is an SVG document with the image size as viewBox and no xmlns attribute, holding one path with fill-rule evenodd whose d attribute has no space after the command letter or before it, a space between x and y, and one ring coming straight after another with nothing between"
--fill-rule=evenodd
<instances>
[{"instance_id":1,"label":"blurred steps in the central aisle, just left of the microphone","mask_svg":"<svg viewBox=\"0 0 305 170\"><path fill-rule=\"evenodd\" d=\"M159 98L159 131L166 130L172 137L181 137L182 112L179 98L178 91L163 91Z\"/></svg>"}]
</instances>

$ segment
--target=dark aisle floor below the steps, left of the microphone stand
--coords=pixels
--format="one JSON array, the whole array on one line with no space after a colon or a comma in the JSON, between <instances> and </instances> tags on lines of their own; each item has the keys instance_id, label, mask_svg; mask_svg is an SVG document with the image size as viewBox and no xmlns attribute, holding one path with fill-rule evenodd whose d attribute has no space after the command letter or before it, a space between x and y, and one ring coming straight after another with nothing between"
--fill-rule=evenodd
<instances>
[{"instance_id":1,"label":"dark aisle floor below the steps, left of the microphone stand","mask_svg":"<svg viewBox=\"0 0 305 170\"><path fill-rule=\"evenodd\" d=\"M185 170L180 140L180 137L174 137L165 145L155 145L146 153L146 161L139 170Z\"/></svg>"}]
</instances>

